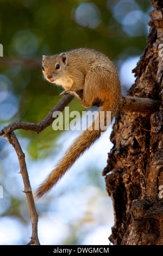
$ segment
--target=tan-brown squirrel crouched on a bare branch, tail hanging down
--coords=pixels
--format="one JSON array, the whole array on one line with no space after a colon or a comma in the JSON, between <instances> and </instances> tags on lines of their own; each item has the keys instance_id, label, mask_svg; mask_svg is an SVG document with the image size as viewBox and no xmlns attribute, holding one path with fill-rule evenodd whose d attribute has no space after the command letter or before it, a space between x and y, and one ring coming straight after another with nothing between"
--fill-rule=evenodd
<instances>
[{"instance_id":1,"label":"tan-brown squirrel crouched on a bare branch, tail hanging down","mask_svg":"<svg viewBox=\"0 0 163 256\"><path fill-rule=\"evenodd\" d=\"M76 48L53 56L43 56L42 71L46 80L65 89L60 95L77 97L85 108L102 106L99 114L104 112L103 124L106 123L107 111L111 111L112 121L120 104L121 83L114 63L105 54L92 48ZM87 127L81 133L37 188L36 198L49 192L79 156L101 136L105 129L96 129L95 119L92 121L92 130Z\"/></svg>"}]
</instances>

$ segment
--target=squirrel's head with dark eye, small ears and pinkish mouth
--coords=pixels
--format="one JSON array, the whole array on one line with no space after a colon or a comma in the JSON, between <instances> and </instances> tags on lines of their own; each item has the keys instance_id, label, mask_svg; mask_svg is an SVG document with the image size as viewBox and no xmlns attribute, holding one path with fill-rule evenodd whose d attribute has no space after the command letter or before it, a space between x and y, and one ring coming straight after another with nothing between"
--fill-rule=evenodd
<instances>
[{"instance_id":1,"label":"squirrel's head with dark eye, small ears and pinkish mouth","mask_svg":"<svg viewBox=\"0 0 163 256\"><path fill-rule=\"evenodd\" d=\"M44 77L51 83L57 83L57 80L66 76L66 65L66 53L42 56L42 72Z\"/></svg>"}]
</instances>

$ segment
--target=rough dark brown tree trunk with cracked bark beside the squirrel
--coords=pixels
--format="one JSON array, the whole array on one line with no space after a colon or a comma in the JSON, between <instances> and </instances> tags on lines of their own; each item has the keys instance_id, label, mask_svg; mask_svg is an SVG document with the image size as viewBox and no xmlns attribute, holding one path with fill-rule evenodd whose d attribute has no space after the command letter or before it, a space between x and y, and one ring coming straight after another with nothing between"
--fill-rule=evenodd
<instances>
[{"instance_id":1,"label":"rough dark brown tree trunk with cracked bark beside the squirrel","mask_svg":"<svg viewBox=\"0 0 163 256\"><path fill-rule=\"evenodd\" d=\"M134 69L136 81L128 95L160 104L151 115L124 111L116 115L114 147L103 170L114 207L109 237L114 245L163 245L163 1L151 2L148 45Z\"/></svg>"}]
</instances>

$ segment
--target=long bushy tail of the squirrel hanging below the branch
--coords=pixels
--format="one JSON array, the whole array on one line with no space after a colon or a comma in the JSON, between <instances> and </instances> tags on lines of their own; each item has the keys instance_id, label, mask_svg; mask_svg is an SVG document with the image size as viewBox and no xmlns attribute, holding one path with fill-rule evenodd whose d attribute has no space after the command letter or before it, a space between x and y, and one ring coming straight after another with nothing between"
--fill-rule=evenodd
<instances>
[{"instance_id":1,"label":"long bushy tail of the squirrel hanging below the branch","mask_svg":"<svg viewBox=\"0 0 163 256\"><path fill-rule=\"evenodd\" d=\"M45 181L42 182L39 188L37 188L35 192L35 198L41 198L44 194L49 192L52 187L57 184L58 180L64 176L66 171L71 168L73 163L81 156L87 149L90 148L90 146L101 136L101 133L106 130L106 126L109 126L109 124L106 124L106 113L107 111L111 111L111 120L114 117L115 111L117 109L117 103L114 103L114 101L110 100L110 102L105 102L101 111L95 117L92 123L92 130L89 130L89 127L81 133L81 135L72 143L70 148L67 149L64 156L61 158L61 160L58 162L57 166L54 170L47 176ZM102 115L102 118L99 118L99 115L103 111L104 115ZM98 119L98 126L99 129L96 129L97 126L97 120ZM110 120L110 121L111 121ZM101 121L101 123L99 123ZM105 126L105 127L104 127Z\"/></svg>"}]
</instances>

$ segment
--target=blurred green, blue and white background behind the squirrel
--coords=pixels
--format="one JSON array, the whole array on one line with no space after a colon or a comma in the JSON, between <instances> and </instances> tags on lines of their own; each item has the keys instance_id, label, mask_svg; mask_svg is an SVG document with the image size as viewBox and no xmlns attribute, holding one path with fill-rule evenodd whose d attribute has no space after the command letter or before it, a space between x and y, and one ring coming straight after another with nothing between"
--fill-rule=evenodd
<instances>
[{"instance_id":1,"label":"blurred green, blue and white background behind the squirrel","mask_svg":"<svg viewBox=\"0 0 163 256\"><path fill-rule=\"evenodd\" d=\"M92 47L117 66L123 94L134 83L131 70L147 45L152 11L148 0L1 0L0 8L1 129L15 120L39 123L61 98L62 89L43 80L43 54ZM70 111L85 110L76 99L69 106ZM15 131L33 191L80 132L54 131L52 126L39 135ZM110 132L111 128L48 196L36 202L41 245L109 245L114 213L102 171L112 147ZM1 137L0 245L27 244L32 234L19 171L14 149Z\"/></svg>"}]
</instances>

